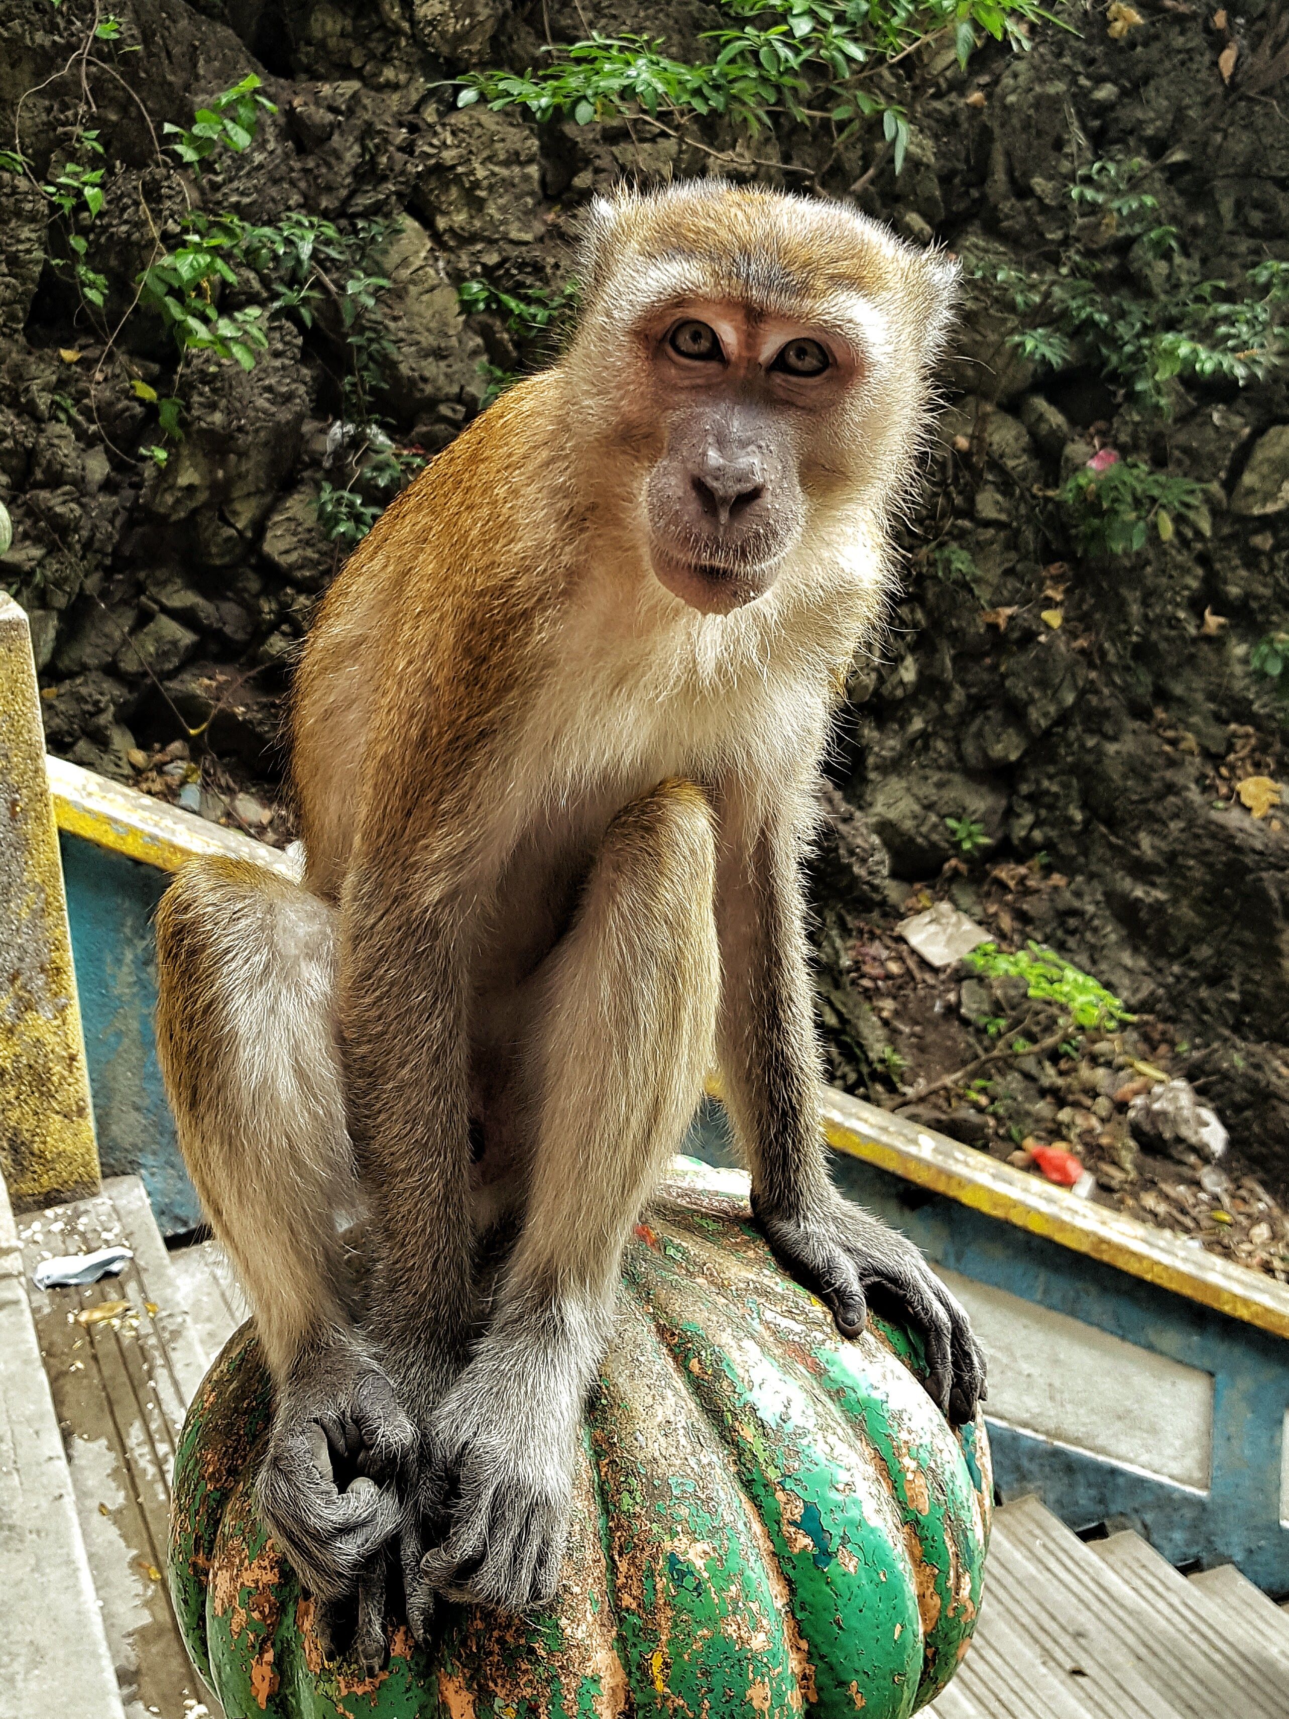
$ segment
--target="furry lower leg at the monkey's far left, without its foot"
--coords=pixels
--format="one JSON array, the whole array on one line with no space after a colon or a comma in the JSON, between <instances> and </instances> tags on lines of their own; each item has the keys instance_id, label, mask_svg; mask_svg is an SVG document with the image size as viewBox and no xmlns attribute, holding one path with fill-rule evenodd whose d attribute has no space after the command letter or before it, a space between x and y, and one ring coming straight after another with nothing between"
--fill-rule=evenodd
<instances>
[{"instance_id":1,"label":"furry lower leg at the monkey's far left, without its foot","mask_svg":"<svg viewBox=\"0 0 1289 1719\"><path fill-rule=\"evenodd\" d=\"M179 1145L275 1372L342 1324L352 1202L335 915L244 860L184 866L156 913L156 1050Z\"/></svg>"}]
</instances>

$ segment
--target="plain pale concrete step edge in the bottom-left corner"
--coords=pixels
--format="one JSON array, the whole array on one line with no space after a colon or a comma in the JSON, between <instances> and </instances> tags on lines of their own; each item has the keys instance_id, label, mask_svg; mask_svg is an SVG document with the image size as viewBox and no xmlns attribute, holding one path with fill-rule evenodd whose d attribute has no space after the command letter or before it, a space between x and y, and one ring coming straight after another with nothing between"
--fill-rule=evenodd
<instances>
[{"instance_id":1,"label":"plain pale concrete step edge in the bottom-left corner","mask_svg":"<svg viewBox=\"0 0 1289 1719\"><path fill-rule=\"evenodd\" d=\"M0 1179L0 1719L124 1719Z\"/></svg>"}]
</instances>

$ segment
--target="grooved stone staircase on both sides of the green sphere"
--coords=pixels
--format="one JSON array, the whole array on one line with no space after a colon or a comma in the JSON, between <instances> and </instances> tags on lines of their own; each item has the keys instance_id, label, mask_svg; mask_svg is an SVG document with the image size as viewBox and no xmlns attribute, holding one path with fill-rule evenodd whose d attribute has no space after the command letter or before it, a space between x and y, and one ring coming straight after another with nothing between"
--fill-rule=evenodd
<instances>
[{"instance_id":1,"label":"grooved stone staircase on both sides of the green sphere","mask_svg":"<svg viewBox=\"0 0 1289 1719\"><path fill-rule=\"evenodd\" d=\"M41 1257L115 1241L120 1277L31 1284ZM162 1571L184 1404L242 1317L213 1243L167 1253L137 1178L17 1229L0 1202L0 1719L218 1719ZM1019 1499L926 1712L1289 1719L1289 1616L1231 1564L1186 1578L1134 1533L1084 1542Z\"/></svg>"}]
</instances>

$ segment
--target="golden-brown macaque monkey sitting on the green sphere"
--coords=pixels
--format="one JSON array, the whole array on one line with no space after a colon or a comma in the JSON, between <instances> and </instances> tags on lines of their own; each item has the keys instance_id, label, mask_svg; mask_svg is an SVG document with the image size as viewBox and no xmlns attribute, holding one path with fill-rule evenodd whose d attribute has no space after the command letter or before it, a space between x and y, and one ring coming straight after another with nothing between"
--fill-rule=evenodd
<instances>
[{"instance_id":1,"label":"golden-brown macaque monkey sitting on the green sphere","mask_svg":"<svg viewBox=\"0 0 1289 1719\"><path fill-rule=\"evenodd\" d=\"M179 1136L275 1384L260 1508L375 1655L387 1542L418 1638L437 1595L552 1597L622 1246L713 1064L782 1265L847 1336L909 1320L950 1420L983 1394L828 1179L799 882L954 266L684 184L598 201L579 278L559 363L321 603L302 887L199 861L158 915Z\"/></svg>"}]
</instances>

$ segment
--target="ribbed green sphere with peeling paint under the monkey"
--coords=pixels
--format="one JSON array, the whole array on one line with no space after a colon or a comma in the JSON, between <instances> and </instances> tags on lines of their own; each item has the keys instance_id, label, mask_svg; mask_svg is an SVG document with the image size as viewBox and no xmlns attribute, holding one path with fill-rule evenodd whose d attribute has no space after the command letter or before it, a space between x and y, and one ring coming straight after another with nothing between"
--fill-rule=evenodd
<instances>
[{"instance_id":1,"label":"ribbed green sphere with peeling paint under the monkey","mask_svg":"<svg viewBox=\"0 0 1289 1719\"><path fill-rule=\"evenodd\" d=\"M751 1226L746 1183L675 1178L624 1263L553 1606L390 1630L327 1666L254 1516L270 1386L242 1327L175 1461L170 1587L229 1719L906 1719L966 1652L990 1518L983 1423L952 1434L919 1351L840 1339Z\"/></svg>"}]
</instances>

